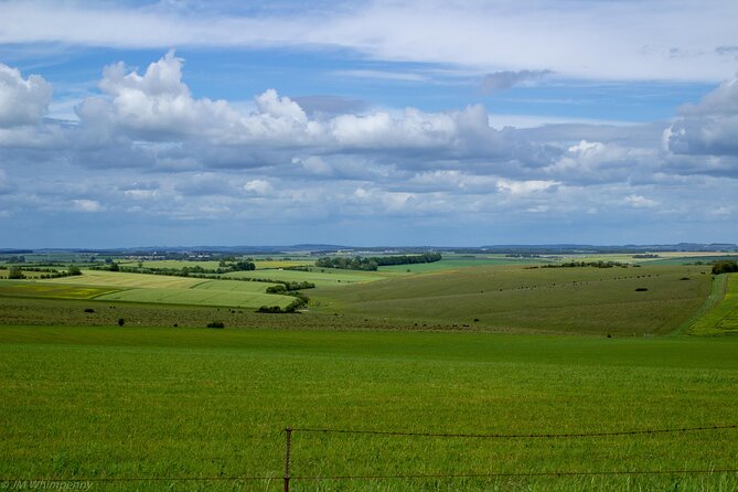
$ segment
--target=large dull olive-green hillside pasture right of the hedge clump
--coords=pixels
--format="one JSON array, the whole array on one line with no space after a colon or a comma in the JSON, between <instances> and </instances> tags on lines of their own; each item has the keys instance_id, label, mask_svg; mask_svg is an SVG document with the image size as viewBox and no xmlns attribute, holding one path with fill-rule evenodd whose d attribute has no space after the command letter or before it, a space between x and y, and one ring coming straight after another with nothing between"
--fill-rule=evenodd
<instances>
[{"instance_id":1,"label":"large dull olive-green hillside pasture right of the hedge clump","mask_svg":"<svg viewBox=\"0 0 738 492\"><path fill-rule=\"evenodd\" d=\"M311 298L317 309L415 320L419 325L440 320L510 330L665 334L709 295L705 271L694 266L488 266L321 288Z\"/></svg>"}]
</instances>

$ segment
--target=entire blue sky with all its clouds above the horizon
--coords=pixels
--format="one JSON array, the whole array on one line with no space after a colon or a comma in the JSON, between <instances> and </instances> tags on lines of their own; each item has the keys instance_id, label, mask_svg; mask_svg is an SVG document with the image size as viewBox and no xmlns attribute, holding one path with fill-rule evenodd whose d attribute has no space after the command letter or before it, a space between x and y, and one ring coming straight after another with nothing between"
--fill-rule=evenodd
<instances>
[{"instance_id":1,"label":"entire blue sky with all its clouds above the horizon","mask_svg":"<svg viewBox=\"0 0 738 492\"><path fill-rule=\"evenodd\" d=\"M0 247L738 243L735 0L0 0Z\"/></svg>"}]
</instances>

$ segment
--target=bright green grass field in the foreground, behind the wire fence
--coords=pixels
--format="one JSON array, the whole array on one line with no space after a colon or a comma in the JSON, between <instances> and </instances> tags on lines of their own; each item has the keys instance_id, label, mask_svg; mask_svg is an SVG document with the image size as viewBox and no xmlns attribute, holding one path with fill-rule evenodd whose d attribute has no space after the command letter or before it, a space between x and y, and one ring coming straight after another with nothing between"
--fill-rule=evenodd
<instances>
[{"instance_id":1,"label":"bright green grass field in the foreground, behind the wire fence","mask_svg":"<svg viewBox=\"0 0 738 492\"><path fill-rule=\"evenodd\" d=\"M738 340L0 327L0 479L281 490L293 427L566 434L738 424ZM578 439L296 432L295 475L737 468L738 429ZM296 481L293 490L735 490L735 473Z\"/></svg>"}]
</instances>

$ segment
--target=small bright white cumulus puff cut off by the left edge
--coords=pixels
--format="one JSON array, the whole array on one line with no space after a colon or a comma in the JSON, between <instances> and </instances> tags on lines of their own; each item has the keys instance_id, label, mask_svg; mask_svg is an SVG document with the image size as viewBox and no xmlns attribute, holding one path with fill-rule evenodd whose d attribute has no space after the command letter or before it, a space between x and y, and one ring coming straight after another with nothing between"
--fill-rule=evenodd
<instances>
[{"instance_id":1,"label":"small bright white cumulus puff cut off by the left edge","mask_svg":"<svg viewBox=\"0 0 738 492\"><path fill-rule=\"evenodd\" d=\"M52 86L43 77L23 78L18 68L0 63L0 128L38 124L51 97Z\"/></svg>"}]
</instances>

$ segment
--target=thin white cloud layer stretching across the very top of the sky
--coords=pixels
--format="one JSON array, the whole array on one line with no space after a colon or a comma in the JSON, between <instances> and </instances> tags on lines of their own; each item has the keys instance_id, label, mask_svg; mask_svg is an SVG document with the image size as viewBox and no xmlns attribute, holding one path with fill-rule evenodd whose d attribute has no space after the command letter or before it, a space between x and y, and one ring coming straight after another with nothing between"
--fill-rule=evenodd
<instances>
[{"instance_id":1,"label":"thin white cloud layer stretching across the very top of the sky","mask_svg":"<svg viewBox=\"0 0 738 492\"><path fill-rule=\"evenodd\" d=\"M710 82L725 76L726 46L738 45L732 0L680 0L670 8L659 0L374 0L259 15L178 6L6 1L0 43L329 46L481 74L546 67L565 77Z\"/></svg>"}]
</instances>

